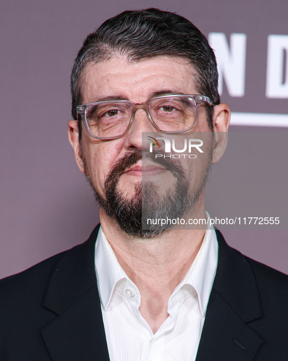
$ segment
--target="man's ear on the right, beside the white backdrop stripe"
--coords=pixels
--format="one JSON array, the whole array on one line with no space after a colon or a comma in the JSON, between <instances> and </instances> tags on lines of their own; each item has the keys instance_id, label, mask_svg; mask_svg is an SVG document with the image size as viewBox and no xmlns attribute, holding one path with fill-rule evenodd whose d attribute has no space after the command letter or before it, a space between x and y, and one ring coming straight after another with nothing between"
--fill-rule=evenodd
<instances>
[{"instance_id":1,"label":"man's ear on the right, beside the white backdrop stripe","mask_svg":"<svg viewBox=\"0 0 288 361\"><path fill-rule=\"evenodd\" d=\"M213 149L212 163L217 163L225 153L228 142L228 127L230 124L231 111L226 103L214 106L213 128L215 144Z\"/></svg>"}]
</instances>

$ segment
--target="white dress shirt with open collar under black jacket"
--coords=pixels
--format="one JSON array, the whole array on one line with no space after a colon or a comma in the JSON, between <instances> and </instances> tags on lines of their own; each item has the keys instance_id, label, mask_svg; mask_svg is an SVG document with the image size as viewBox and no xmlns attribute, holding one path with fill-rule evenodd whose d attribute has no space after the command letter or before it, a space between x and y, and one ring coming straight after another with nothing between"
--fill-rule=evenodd
<instances>
[{"instance_id":1,"label":"white dress shirt with open collar under black jacket","mask_svg":"<svg viewBox=\"0 0 288 361\"><path fill-rule=\"evenodd\" d=\"M153 334L139 312L139 290L119 265L100 227L95 269L110 360L194 361L217 259L216 234L209 229L189 271L169 298L169 317Z\"/></svg>"}]
</instances>

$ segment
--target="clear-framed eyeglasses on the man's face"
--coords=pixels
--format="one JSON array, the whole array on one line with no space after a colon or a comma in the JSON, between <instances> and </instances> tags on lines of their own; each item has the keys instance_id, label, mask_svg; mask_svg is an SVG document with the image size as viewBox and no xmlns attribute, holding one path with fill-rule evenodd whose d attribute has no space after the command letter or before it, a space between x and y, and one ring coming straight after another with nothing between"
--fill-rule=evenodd
<instances>
[{"instance_id":1,"label":"clear-framed eyeglasses on the man's face","mask_svg":"<svg viewBox=\"0 0 288 361\"><path fill-rule=\"evenodd\" d=\"M213 106L211 99L200 94L163 95L135 104L112 100L82 104L77 114L91 137L103 140L125 135L134 121L136 110L143 109L151 124L162 133L181 133L195 127L202 103Z\"/></svg>"}]
</instances>

